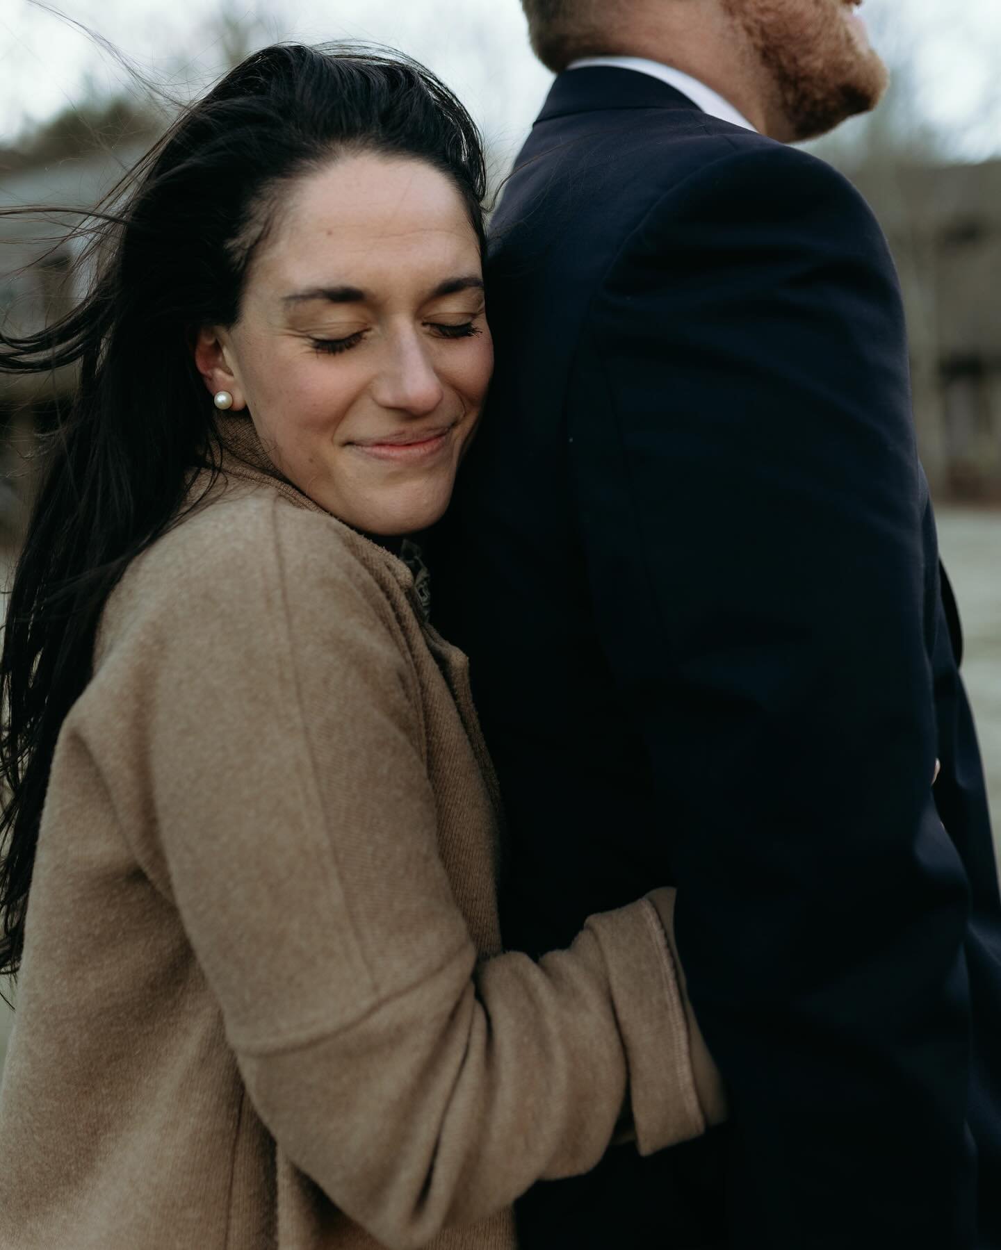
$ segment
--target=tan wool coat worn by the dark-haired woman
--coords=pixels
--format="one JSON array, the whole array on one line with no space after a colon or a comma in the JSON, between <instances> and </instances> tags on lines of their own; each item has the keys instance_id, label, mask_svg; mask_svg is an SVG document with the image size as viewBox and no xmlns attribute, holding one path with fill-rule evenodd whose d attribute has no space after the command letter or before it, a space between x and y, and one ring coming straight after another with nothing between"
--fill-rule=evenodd
<instances>
[{"instance_id":1,"label":"tan wool coat worn by the dark-haired woman","mask_svg":"<svg viewBox=\"0 0 1001 1250\"><path fill-rule=\"evenodd\" d=\"M511 1250L536 1180L721 1114L671 895L502 952L464 656L246 418L223 435L56 748L0 1248Z\"/></svg>"}]
</instances>

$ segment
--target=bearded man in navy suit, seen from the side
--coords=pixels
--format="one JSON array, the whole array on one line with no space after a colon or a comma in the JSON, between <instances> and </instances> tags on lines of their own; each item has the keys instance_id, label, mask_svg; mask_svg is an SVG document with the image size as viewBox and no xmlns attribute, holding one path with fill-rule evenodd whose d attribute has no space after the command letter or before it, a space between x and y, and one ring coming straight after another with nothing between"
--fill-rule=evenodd
<instances>
[{"instance_id":1,"label":"bearded man in navy suit, seen from the side","mask_svg":"<svg viewBox=\"0 0 1001 1250\"><path fill-rule=\"evenodd\" d=\"M1001 902L900 292L785 146L885 69L842 0L523 4L558 76L493 225L437 616L506 940L677 884L732 1122L541 1186L522 1244L1000 1248Z\"/></svg>"}]
</instances>

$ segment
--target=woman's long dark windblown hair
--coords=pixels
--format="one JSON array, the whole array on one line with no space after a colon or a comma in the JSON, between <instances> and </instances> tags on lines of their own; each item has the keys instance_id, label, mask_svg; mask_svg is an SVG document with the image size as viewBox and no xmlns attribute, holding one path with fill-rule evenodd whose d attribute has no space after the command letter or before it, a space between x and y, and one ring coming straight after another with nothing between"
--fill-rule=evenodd
<instances>
[{"instance_id":1,"label":"woman's long dark windblown hair","mask_svg":"<svg viewBox=\"0 0 1001 1250\"><path fill-rule=\"evenodd\" d=\"M482 142L438 79L390 52L277 45L188 109L90 215L95 278L79 306L41 332L0 334L0 371L79 366L44 451L0 658L0 972L20 966L53 755L90 679L101 610L184 508L211 445L194 332L238 319L283 186L357 151L442 170L482 245Z\"/></svg>"}]
</instances>

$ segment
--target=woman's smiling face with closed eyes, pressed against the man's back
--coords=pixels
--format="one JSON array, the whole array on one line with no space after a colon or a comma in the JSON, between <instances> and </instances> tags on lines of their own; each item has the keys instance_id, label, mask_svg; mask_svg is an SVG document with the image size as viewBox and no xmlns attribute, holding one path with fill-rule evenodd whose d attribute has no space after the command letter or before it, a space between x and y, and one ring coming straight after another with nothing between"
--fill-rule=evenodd
<instances>
[{"instance_id":1,"label":"woman's smiling face with closed eyes, pressed against the man's back","mask_svg":"<svg viewBox=\"0 0 1001 1250\"><path fill-rule=\"evenodd\" d=\"M302 179L252 262L239 320L204 330L196 360L327 511L378 535L430 525L493 368L459 192L429 165L375 155Z\"/></svg>"}]
</instances>

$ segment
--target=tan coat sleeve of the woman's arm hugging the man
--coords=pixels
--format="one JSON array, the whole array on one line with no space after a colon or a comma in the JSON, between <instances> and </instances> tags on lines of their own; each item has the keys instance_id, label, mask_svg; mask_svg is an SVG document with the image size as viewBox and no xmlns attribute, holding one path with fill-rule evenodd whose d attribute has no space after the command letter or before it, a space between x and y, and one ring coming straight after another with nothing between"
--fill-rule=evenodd
<instances>
[{"instance_id":1,"label":"tan coat sleeve of the woman's arm hugging the man","mask_svg":"<svg viewBox=\"0 0 1001 1250\"><path fill-rule=\"evenodd\" d=\"M285 1155L404 1248L588 1170L623 1114L644 1151L703 1131L669 899L594 916L538 964L478 962L382 591L287 505L191 564L144 642L150 804Z\"/></svg>"}]
</instances>

